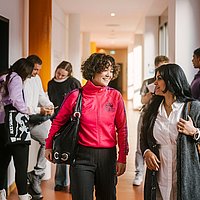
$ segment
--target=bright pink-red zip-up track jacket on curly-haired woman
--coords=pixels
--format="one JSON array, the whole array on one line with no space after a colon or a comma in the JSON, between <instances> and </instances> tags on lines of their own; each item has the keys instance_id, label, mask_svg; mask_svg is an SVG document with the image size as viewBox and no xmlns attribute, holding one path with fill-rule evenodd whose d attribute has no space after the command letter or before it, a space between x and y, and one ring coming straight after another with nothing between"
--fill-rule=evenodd
<instances>
[{"instance_id":1,"label":"bright pink-red zip-up track jacket on curly-haired woman","mask_svg":"<svg viewBox=\"0 0 200 200\"><path fill-rule=\"evenodd\" d=\"M58 115L52 122L46 139L46 149L52 149L53 136L69 119L77 96L78 90L66 96ZM92 148L112 148L118 143L118 162L126 163L127 135L125 106L121 94L113 88L95 86L88 81L82 88L78 143Z\"/></svg>"}]
</instances>

